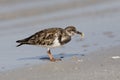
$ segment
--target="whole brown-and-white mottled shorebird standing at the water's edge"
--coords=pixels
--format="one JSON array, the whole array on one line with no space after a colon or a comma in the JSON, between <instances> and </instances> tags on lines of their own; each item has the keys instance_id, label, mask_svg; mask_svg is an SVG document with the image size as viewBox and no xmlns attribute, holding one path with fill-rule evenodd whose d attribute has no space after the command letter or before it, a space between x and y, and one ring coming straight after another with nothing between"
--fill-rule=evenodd
<instances>
[{"instance_id":1,"label":"whole brown-and-white mottled shorebird standing at the water's edge","mask_svg":"<svg viewBox=\"0 0 120 80\"><path fill-rule=\"evenodd\" d=\"M36 32L32 36L22 40L18 40L16 42L20 43L19 45L17 45L17 47L23 44L41 45L47 47L48 48L47 53L50 58L50 61L55 62L61 59L55 59L52 56L50 49L68 43L71 40L71 37L75 34L80 34L82 38L84 37L84 33L77 31L74 26L68 26L65 29L48 28Z\"/></svg>"}]
</instances>

